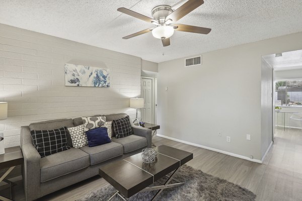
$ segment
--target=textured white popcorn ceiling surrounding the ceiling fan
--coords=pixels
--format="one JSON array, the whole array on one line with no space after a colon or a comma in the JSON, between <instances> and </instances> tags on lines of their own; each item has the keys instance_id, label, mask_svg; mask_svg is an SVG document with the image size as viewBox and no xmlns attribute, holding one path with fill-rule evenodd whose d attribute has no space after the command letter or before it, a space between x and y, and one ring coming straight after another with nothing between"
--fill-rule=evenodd
<instances>
[{"instance_id":1,"label":"textured white popcorn ceiling surrounding the ceiling fan","mask_svg":"<svg viewBox=\"0 0 302 201\"><path fill-rule=\"evenodd\" d=\"M1 0L0 23L162 62L302 31L301 0L205 0L177 23L208 27L208 35L175 32L171 45L147 33L123 36L154 25L116 11L120 7L151 16L167 0ZM164 53L164 55L163 55Z\"/></svg>"}]
</instances>

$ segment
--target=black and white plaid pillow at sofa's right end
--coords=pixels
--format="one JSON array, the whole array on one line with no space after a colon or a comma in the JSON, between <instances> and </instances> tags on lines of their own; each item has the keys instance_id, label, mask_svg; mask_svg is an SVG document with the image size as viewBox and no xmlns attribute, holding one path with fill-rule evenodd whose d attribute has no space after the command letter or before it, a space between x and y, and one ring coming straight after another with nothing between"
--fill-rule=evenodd
<instances>
[{"instance_id":1,"label":"black and white plaid pillow at sofa's right end","mask_svg":"<svg viewBox=\"0 0 302 201\"><path fill-rule=\"evenodd\" d=\"M113 129L116 139L123 138L133 134L129 116L126 116L121 119L113 120L112 124L113 124Z\"/></svg>"}]
</instances>

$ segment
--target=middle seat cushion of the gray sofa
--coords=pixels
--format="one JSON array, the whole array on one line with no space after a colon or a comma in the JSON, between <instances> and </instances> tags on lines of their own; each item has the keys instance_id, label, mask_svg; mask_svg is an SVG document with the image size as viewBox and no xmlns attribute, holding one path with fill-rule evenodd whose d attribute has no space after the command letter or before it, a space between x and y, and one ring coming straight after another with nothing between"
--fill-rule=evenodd
<instances>
[{"instance_id":1,"label":"middle seat cushion of the gray sofa","mask_svg":"<svg viewBox=\"0 0 302 201\"><path fill-rule=\"evenodd\" d=\"M91 165L123 155L123 146L115 142L96 147L88 147L88 145L86 145L80 149L89 154Z\"/></svg>"}]
</instances>

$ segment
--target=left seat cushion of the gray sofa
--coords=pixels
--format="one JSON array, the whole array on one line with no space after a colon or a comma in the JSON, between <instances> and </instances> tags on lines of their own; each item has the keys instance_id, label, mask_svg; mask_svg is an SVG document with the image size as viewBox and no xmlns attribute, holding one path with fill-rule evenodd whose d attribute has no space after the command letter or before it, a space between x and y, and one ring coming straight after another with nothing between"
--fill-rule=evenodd
<instances>
[{"instance_id":1,"label":"left seat cushion of the gray sofa","mask_svg":"<svg viewBox=\"0 0 302 201\"><path fill-rule=\"evenodd\" d=\"M49 181L88 166L89 154L77 148L46 156L40 160L41 182Z\"/></svg>"}]
</instances>

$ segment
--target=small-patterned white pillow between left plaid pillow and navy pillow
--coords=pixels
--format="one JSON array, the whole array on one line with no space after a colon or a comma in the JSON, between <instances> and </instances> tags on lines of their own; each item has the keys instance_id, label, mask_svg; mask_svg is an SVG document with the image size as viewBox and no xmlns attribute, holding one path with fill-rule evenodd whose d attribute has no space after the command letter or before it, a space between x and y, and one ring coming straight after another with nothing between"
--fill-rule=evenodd
<instances>
[{"instance_id":1,"label":"small-patterned white pillow between left plaid pillow and navy pillow","mask_svg":"<svg viewBox=\"0 0 302 201\"><path fill-rule=\"evenodd\" d=\"M84 133L84 124L70 127L68 131L74 148L81 148L88 144L87 135Z\"/></svg>"}]
</instances>

